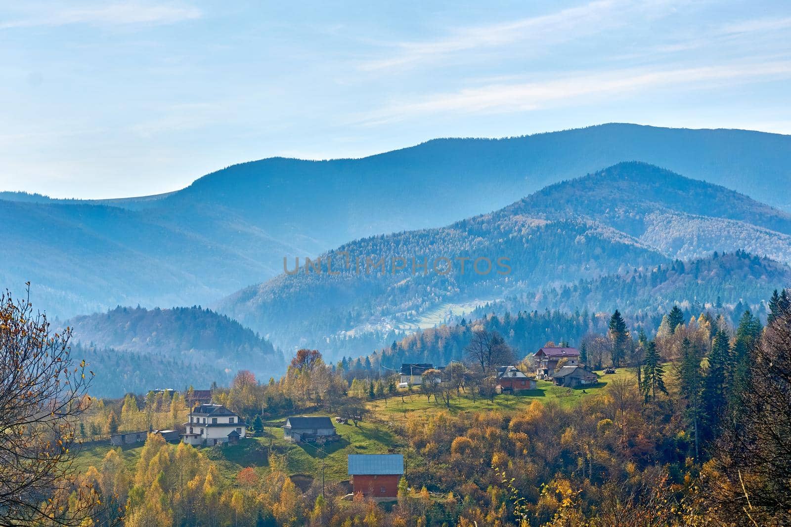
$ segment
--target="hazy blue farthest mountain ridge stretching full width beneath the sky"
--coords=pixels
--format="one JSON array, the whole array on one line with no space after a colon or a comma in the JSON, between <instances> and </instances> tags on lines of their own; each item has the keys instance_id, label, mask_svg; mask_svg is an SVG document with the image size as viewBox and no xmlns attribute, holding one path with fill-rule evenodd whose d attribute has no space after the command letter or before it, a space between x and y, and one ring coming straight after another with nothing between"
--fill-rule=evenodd
<instances>
[{"instance_id":1,"label":"hazy blue farthest mountain ridge stretching full width beneath the sky","mask_svg":"<svg viewBox=\"0 0 791 527\"><path fill-rule=\"evenodd\" d=\"M19 290L30 280L36 304L62 317L118 304L206 305L276 276L284 256L450 224L628 160L791 208L791 137L784 135L607 124L437 139L354 160L238 164L142 198L0 194L0 218L13 226L0 248L0 287ZM644 221L653 231L668 225L664 216ZM694 240L678 243L676 253L695 254Z\"/></svg>"}]
</instances>

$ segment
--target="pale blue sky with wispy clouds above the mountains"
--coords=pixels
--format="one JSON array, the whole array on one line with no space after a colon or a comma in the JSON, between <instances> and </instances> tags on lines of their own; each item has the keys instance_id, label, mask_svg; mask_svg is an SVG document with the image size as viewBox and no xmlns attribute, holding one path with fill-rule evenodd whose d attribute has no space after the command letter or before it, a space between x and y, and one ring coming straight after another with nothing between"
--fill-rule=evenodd
<instances>
[{"instance_id":1,"label":"pale blue sky with wispy clouds above the mountains","mask_svg":"<svg viewBox=\"0 0 791 527\"><path fill-rule=\"evenodd\" d=\"M603 122L791 134L787 1L2 2L0 190Z\"/></svg>"}]
</instances>

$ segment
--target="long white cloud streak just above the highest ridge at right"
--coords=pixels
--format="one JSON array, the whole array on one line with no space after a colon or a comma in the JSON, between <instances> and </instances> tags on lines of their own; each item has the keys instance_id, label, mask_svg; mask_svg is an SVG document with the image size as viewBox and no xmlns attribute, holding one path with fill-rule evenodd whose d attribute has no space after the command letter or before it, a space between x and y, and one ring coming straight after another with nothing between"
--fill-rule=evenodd
<instances>
[{"instance_id":1,"label":"long white cloud streak just above the highest ridge at right","mask_svg":"<svg viewBox=\"0 0 791 527\"><path fill-rule=\"evenodd\" d=\"M625 69L577 73L538 82L486 85L437 93L373 111L358 123L380 125L416 116L447 113L505 113L573 106L592 97L609 100L628 92L676 85L712 85L718 82L754 82L791 77L791 61L736 62L678 69Z\"/></svg>"}]
</instances>

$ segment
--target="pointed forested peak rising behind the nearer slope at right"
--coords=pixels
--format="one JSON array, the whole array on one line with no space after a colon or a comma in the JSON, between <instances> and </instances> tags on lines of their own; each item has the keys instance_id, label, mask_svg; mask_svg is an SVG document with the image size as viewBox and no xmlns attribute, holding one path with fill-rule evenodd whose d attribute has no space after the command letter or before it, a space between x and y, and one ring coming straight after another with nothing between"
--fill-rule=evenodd
<instances>
[{"instance_id":1,"label":"pointed forested peak rising behind the nearer slope at right","mask_svg":"<svg viewBox=\"0 0 791 527\"><path fill-rule=\"evenodd\" d=\"M555 183L499 214L596 221L670 258L747 250L791 263L791 214L645 163L619 163Z\"/></svg>"}]
</instances>

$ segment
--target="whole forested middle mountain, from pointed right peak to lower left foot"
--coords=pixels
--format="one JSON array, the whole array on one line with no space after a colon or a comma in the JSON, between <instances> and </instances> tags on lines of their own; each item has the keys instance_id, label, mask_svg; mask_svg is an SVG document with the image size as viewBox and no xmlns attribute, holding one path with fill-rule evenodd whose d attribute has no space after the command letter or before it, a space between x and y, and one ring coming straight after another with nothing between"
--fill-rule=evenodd
<instances>
[{"instance_id":1,"label":"whole forested middle mountain, from pointed right peak to lower left foot","mask_svg":"<svg viewBox=\"0 0 791 527\"><path fill-rule=\"evenodd\" d=\"M683 224L686 230L657 228L652 223L657 215ZM346 243L324 255L323 273L308 272L303 265L296 274L283 274L231 295L218 309L266 332L278 345L318 346L327 338L341 342L371 332L384 335L448 304L509 295L529 297L544 288L608 275L619 284L621 280L634 283L638 277L650 277L657 265L667 269L676 258L709 256L715 251L735 253L748 247L760 256L769 254L788 262L791 236L786 232L791 232L791 216L744 194L652 165L623 163L547 187L505 209L446 228ZM353 264L351 269L328 275L327 257L335 262L333 270L337 271L347 254L352 262L359 258L362 272ZM482 276L470 272L467 262L467 273L461 274L456 262L447 274L437 273L431 264L426 274L418 269L413 275L411 265L394 273L393 258L399 257L419 262L441 257L468 257L469 262L508 258L510 272L497 273L495 268ZM365 258L372 264L384 258L385 273L377 269L366 273ZM610 309L604 305L607 302L634 302L656 311L670 301L693 302L698 292L702 297L712 288L725 288L724 297L739 293L752 299L758 293L764 298L772 288L786 285L785 265L759 259L757 272L763 277L759 279L744 273L744 266L736 260L722 261L728 265L712 264L716 269L711 276L703 282L695 277L694 286L669 287L667 298L650 288L623 292L642 296L616 298L607 291L623 287L609 285L601 288L603 299L594 301L592 297L590 303L606 310ZM445 263L439 267L445 269ZM293 262L289 268L293 271ZM679 295L672 296L674 292ZM575 307L588 301L587 297L579 299ZM313 309L315 306L323 309ZM297 341L295 335L301 339ZM361 339L361 344L364 341Z\"/></svg>"}]
</instances>

